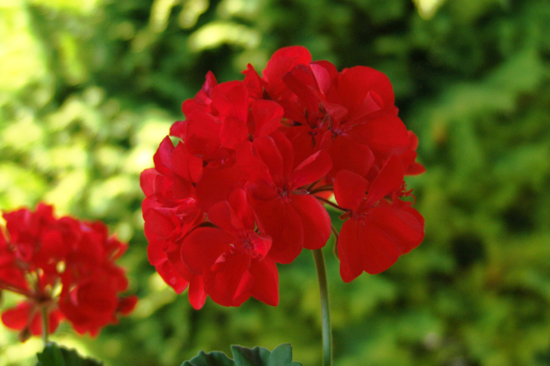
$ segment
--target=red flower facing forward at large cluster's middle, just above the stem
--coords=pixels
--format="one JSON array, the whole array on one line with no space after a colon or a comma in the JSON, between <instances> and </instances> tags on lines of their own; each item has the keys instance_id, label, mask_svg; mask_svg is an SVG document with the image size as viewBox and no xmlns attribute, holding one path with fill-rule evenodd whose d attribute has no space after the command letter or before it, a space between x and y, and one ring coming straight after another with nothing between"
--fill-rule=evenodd
<instances>
[{"instance_id":1,"label":"red flower facing forward at large cluster's middle, just above the stem","mask_svg":"<svg viewBox=\"0 0 550 366\"><path fill-rule=\"evenodd\" d=\"M294 168L292 145L282 133L243 144L239 171L262 232L273 238L269 258L290 263L300 251L319 249L329 239L329 214L301 188L320 180L331 168L329 155L318 151Z\"/></svg>"}]
</instances>

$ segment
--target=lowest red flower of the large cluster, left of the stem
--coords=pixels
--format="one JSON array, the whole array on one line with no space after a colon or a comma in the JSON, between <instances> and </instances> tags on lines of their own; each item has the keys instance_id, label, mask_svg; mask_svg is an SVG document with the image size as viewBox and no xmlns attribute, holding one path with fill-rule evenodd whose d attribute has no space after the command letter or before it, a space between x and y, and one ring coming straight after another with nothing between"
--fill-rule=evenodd
<instances>
[{"instance_id":1,"label":"lowest red flower of the large cluster, left of the stem","mask_svg":"<svg viewBox=\"0 0 550 366\"><path fill-rule=\"evenodd\" d=\"M254 231L252 210L243 190L208 211L217 227L199 227L181 244L181 258L202 275L206 293L223 306L240 306L250 296L278 304L275 263L265 258L272 240Z\"/></svg>"}]
</instances>

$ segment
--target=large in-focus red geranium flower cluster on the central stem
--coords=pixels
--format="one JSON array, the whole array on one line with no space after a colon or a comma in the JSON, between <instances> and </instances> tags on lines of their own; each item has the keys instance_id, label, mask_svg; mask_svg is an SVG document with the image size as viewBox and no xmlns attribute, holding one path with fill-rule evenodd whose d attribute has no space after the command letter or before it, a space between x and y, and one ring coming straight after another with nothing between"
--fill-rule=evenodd
<instances>
[{"instance_id":1,"label":"large in-focus red geranium flower cluster on the central stem","mask_svg":"<svg viewBox=\"0 0 550 366\"><path fill-rule=\"evenodd\" d=\"M397 117L388 78L338 72L304 47L279 49L259 76L218 84L212 73L185 121L175 122L144 170L148 259L190 303L249 297L278 303L276 263L322 248L324 203L343 211L340 274L380 273L423 239L423 218L401 197L420 174L417 137ZM334 193L336 202L327 198Z\"/></svg>"}]
</instances>

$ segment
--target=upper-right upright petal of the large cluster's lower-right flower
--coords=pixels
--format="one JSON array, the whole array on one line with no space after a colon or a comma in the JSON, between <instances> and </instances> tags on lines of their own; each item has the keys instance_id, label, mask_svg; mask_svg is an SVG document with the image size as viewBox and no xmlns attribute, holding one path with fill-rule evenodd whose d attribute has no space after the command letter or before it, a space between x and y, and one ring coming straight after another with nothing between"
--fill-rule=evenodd
<instances>
[{"instance_id":1,"label":"upper-right upright petal of the large cluster's lower-right flower","mask_svg":"<svg viewBox=\"0 0 550 366\"><path fill-rule=\"evenodd\" d=\"M376 176L369 193L366 195L368 205L373 205L389 193L399 190L403 184L403 164L396 155L392 155Z\"/></svg>"}]
</instances>

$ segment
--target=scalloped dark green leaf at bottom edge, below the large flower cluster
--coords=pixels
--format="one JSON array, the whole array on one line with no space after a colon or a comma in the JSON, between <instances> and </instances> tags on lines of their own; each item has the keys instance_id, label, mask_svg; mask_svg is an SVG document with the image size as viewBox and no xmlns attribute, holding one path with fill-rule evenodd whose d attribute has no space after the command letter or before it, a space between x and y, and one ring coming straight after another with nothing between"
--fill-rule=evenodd
<instances>
[{"instance_id":1,"label":"scalloped dark green leaf at bottom edge, below the large flower cluster","mask_svg":"<svg viewBox=\"0 0 550 366\"><path fill-rule=\"evenodd\" d=\"M181 366L302 366L301 363L292 361L292 347L288 343L279 345L273 352L265 347L242 347L232 345L231 352L234 360L225 356L223 352L203 351L185 361Z\"/></svg>"}]
</instances>

